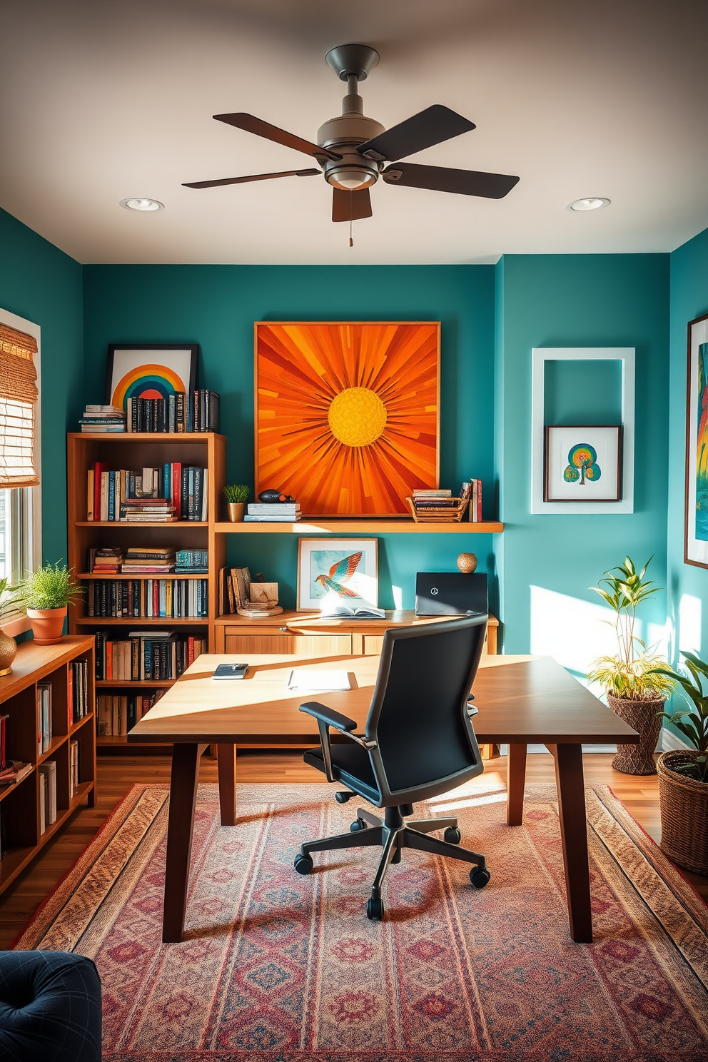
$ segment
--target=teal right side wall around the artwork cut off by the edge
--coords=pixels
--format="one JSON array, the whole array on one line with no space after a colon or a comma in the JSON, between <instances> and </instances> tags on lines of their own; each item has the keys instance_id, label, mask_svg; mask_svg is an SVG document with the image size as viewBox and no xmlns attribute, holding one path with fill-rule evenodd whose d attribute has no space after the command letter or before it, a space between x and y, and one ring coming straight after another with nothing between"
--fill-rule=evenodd
<instances>
[{"instance_id":1,"label":"teal right side wall around the artwork cut off by the edge","mask_svg":"<svg viewBox=\"0 0 708 1062\"><path fill-rule=\"evenodd\" d=\"M684 564L687 325L708 313L708 229L671 255L671 395L669 406L668 586L672 658L708 652L708 569ZM676 704L676 707L686 707Z\"/></svg>"}]
</instances>

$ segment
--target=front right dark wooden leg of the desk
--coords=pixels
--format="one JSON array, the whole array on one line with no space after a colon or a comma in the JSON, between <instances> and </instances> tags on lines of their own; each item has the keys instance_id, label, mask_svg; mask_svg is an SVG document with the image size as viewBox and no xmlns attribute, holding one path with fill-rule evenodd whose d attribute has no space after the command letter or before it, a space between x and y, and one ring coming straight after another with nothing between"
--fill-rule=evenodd
<instances>
[{"instance_id":1,"label":"front right dark wooden leg of the desk","mask_svg":"<svg viewBox=\"0 0 708 1062\"><path fill-rule=\"evenodd\" d=\"M592 914L590 912L583 747L580 744L557 744L552 751L555 757L555 783L558 789L558 813L560 817L563 860L566 869L570 936L576 943L589 944L592 942Z\"/></svg>"}]
</instances>

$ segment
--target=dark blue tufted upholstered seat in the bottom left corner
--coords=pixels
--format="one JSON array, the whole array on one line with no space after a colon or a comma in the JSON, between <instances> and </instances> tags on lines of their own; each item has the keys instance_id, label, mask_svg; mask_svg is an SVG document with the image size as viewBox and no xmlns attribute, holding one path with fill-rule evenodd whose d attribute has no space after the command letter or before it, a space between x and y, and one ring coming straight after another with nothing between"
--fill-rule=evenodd
<instances>
[{"instance_id":1,"label":"dark blue tufted upholstered seat in the bottom left corner","mask_svg":"<svg viewBox=\"0 0 708 1062\"><path fill-rule=\"evenodd\" d=\"M101 1062L101 979L67 952L0 952L2 1062Z\"/></svg>"}]
</instances>

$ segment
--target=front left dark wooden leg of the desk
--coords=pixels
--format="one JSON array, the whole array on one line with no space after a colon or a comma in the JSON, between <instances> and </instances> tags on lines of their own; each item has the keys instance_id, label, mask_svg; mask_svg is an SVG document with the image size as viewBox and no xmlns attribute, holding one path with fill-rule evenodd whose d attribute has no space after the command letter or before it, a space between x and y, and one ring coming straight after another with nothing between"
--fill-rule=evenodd
<instances>
[{"instance_id":1,"label":"front left dark wooden leg of the desk","mask_svg":"<svg viewBox=\"0 0 708 1062\"><path fill-rule=\"evenodd\" d=\"M189 857L192 852L196 780L200 755L204 746L175 743L172 752L170 781L170 817L167 827L167 863L165 867L165 910L162 942L182 940L187 907Z\"/></svg>"}]
</instances>

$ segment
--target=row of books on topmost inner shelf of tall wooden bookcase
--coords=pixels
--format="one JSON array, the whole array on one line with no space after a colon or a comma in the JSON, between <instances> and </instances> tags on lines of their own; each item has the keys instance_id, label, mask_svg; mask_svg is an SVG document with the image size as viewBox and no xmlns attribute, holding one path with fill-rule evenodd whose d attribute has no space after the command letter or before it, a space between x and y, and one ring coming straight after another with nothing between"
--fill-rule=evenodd
<instances>
[{"instance_id":1,"label":"row of books on topmost inner shelf of tall wooden bookcase","mask_svg":"<svg viewBox=\"0 0 708 1062\"><path fill-rule=\"evenodd\" d=\"M208 469L172 462L156 468L111 470L101 461L88 469L86 519L206 520Z\"/></svg>"}]
</instances>

